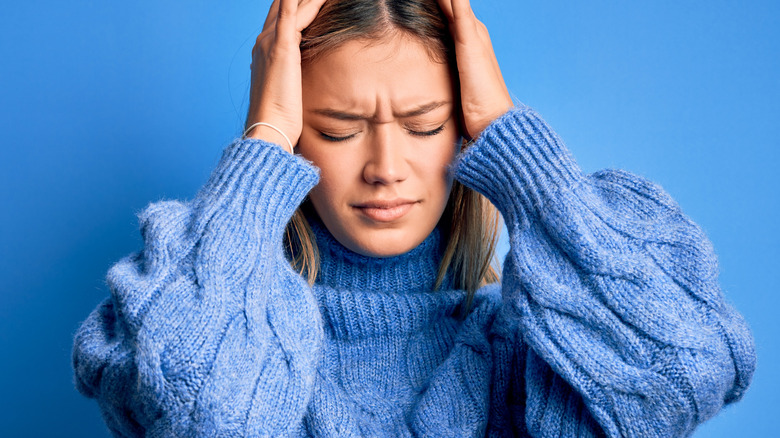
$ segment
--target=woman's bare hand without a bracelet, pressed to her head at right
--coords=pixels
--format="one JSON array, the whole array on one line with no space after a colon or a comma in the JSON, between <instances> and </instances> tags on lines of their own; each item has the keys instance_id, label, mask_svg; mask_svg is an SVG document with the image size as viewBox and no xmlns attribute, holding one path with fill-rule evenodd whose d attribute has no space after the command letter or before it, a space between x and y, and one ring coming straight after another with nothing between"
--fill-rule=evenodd
<instances>
[{"instance_id":1,"label":"woman's bare hand without a bracelet, pressed to her head at right","mask_svg":"<svg viewBox=\"0 0 780 438\"><path fill-rule=\"evenodd\" d=\"M514 106L506 88L487 27L471 10L469 0L438 0L455 41L463 123L474 139Z\"/></svg>"}]
</instances>

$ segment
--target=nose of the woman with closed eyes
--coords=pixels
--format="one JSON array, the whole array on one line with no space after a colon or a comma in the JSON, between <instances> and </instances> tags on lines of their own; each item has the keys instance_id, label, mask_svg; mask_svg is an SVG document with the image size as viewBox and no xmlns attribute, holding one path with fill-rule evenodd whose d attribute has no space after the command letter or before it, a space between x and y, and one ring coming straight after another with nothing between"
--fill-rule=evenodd
<instances>
[{"instance_id":1,"label":"nose of the woman with closed eyes","mask_svg":"<svg viewBox=\"0 0 780 438\"><path fill-rule=\"evenodd\" d=\"M369 184L393 184L409 176L403 134L392 124L380 125L369 140L363 179Z\"/></svg>"}]
</instances>

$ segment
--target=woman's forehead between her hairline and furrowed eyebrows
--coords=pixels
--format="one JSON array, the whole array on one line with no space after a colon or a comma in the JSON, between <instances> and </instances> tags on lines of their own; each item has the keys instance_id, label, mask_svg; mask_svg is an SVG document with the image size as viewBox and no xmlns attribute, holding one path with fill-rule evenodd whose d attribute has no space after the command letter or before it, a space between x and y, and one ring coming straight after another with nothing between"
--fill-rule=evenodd
<instances>
[{"instance_id":1,"label":"woman's forehead between her hairline and furrowed eyebrows","mask_svg":"<svg viewBox=\"0 0 780 438\"><path fill-rule=\"evenodd\" d=\"M453 96L448 65L410 37L347 41L307 63L302 74L305 107L404 110Z\"/></svg>"}]
</instances>

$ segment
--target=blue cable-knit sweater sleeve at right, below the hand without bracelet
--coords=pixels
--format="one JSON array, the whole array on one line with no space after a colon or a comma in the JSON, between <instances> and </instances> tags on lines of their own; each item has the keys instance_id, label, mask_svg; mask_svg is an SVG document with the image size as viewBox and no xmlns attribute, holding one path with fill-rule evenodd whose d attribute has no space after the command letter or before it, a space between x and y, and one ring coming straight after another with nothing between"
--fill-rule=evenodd
<instances>
[{"instance_id":1,"label":"blue cable-knit sweater sleeve at right, below the hand without bracelet","mask_svg":"<svg viewBox=\"0 0 780 438\"><path fill-rule=\"evenodd\" d=\"M752 335L712 244L661 187L583 174L528 107L494 121L454 175L509 230L502 300L530 347L518 361L529 433L687 436L742 397Z\"/></svg>"}]
</instances>

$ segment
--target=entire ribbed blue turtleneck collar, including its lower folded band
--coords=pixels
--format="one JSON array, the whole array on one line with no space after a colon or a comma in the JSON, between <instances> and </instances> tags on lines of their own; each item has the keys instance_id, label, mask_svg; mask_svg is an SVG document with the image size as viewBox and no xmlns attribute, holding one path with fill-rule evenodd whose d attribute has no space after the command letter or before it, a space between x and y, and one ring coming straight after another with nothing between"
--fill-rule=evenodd
<instances>
[{"instance_id":1,"label":"entire ribbed blue turtleneck collar, including its lower folded band","mask_svg":"<svg viewBox=\"0 0 780 438\"><path fill-rule=\"evenodd\" d=\"M336 338L410 336L455 313L466 296L449 278L433 290L445 243L438 227L405 254L375 258L344 247L319 219L309 222L320 253L315 294Z\"/></svg>"}]
</instances>

